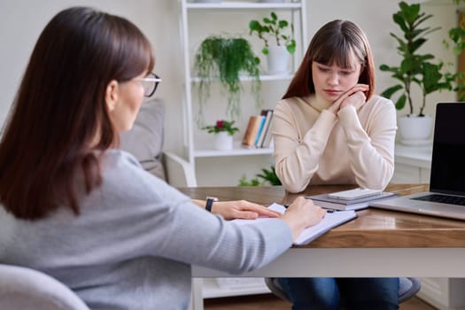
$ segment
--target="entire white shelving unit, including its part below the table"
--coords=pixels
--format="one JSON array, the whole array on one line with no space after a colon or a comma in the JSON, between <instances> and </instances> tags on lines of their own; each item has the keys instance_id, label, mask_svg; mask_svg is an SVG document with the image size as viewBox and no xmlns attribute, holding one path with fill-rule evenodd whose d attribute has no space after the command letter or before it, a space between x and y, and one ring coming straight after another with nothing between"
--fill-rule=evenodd
<instances>
[{"instance_id":1,"label":"entire white shelving unit, including its part below the table","mask_svg":"<svg viewBox=\"0 0 465 310\"><path fill-rule=\"evenodd\" d=\"M304 55L306 46L307 46L307 35L306 35L306 1L305 0L285 0L282 3L275 2L258 2L257 0L244 0L244 1L227 1L222 0L220 3L199 3L192 2L188 0L181 1L181 30L182 30L182 46L183 46L183 56L184 56L184 105L183 105L183 126L184 126L184 139L183 139L183 152L182 156L190 163L192 170L195 174L196 169L196 159L205 159L205 158L223 158L223 157L238 157L238 156L252 156L252 155L270 155L273 153L273 149L255 149L247 148L241 145L239 141L236 141L234 144L233 150L229 151L217 151L213 150L211 145L202 141L196 140L195 133L199 130L196 122L196 115L194 115L195 107L198 106L198 103L194 100L193 96L193 85L198 82L198 77L194 76L191 72L193 66L193 56L195 53L193 36L191 35L193 30L200 27L194 22L191 22L190 17L194 14L201 16L201 23L208 23L209 19L204 18L205 14L221 14L221 23L224 21L227 24L228 17L230 13L240 15L251 14L253 19L262 19L267 16L269 12L276 12L278 16L281 17L281 12L286 15L286 19L290 20L294 24L294 31L297 41L296 53L291 57L291 73L290 74L280 74L280 75L269 75L262 74L260 76L260 81L262 83L273 83L279 81L289 82L293 76L293 72L297 70L297 67L300 63L300 59ZM260 15L260 17L257 17ZM216 16L216 15L215 15ZM212 15L210 15L212 17ZM235 15L237 17L237 15ZM241 16L242 17L242 16ZM290 17L290 19L289 19ZM248 19L250 20L250 19ZM234 20L236 22L236 20ZM233 23L234 27L240 27L243 30L248 30L248 21L237 21ZM204 30L207 29L204 26ZM213 23L211 29L209 28L205 33L211 35L214 33L221 33L221 26ZM197 34L198 35L198 34ZM248 38L247 38L248 39ZM257 48L256 50L260 51ZM257 52L257 51L256 51ZM257 54L259 54L257 52ZM251 81L251 78L244 77L241 81ZM279 97L274 98L275 102ZM243 103L244 104L244 103ZM246 115L247 118L249 115ZM213 167L212 167L213 168ZM215 279L194 279L193 281L193 306L195 309L203 308L203 298L218 298L218 297L227 297L227 296L238 296L238 295L250 295L250 294L262 294L267 293L269 290L264 282L256 283L251 285L250 283L244 283L244 285L233 285L234 287L221 287L218 285Z\"/></svg>"}]
</instances>

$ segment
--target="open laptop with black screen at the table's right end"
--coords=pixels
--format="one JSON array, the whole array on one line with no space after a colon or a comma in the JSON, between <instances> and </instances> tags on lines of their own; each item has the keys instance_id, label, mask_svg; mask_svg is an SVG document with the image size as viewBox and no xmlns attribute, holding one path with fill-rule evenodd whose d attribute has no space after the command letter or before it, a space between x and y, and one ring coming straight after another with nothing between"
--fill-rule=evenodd
<instances>
[{"instance_id":1,"label":"open laptop with black screen at the table's right end","mask_svg":"<svg viewBox=\"0 0 465 310\"><path fill-rule=\"evenodd\" d=\"M465 220L465 103L436 107L430 191L369 206Z\"/></svg>"}]
</instances>

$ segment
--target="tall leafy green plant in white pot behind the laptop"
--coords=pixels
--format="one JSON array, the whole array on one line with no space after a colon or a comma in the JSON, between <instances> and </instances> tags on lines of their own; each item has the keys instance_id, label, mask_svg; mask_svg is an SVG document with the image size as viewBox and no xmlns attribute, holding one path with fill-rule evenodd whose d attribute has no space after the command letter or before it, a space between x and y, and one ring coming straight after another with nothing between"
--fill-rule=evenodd
<instances>
[{"instance_id":1,"label":"tall leafy green plant in white pot behind the laptop","mask_svg":"<svg viewBox=\"0 0 465 310\"><path fill-rule=\"evenodd\" d=\"M396 109L402 110L408 104L408 114L398 120L399 134L405 143L420 143L427 141L431 134L432 118L424 114L426 97L442 89L452 89L451 74L443 73L443 63L433 62L432 54L422 54L419 49L428 41L427 35L437 31L439 27L424 26L424 22L432 17L421 12L420 4L399 3L399 11L392 15L392 19L399 26L403 36L394 37L399 46L397 50L401 56L399 66L381 65L380 70L391 72L391 77L399 84L385 89L382 96L391 98L398 94L395 101ZM422 93L419 109L415 110L412 92L414 86Z\"/></svg>"}]
</instances>

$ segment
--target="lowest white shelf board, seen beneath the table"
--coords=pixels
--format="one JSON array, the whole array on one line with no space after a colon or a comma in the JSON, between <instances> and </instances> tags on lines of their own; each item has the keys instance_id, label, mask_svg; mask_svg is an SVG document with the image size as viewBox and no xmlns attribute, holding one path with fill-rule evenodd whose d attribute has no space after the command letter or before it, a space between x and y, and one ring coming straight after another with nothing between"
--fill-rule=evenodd
<instances>
[{"instance_id":1,"label":"lowest white shelf board, seen beneath the table","mask_svg":"<svg viewBox=\"0 0 465 310\"><path fill-rule=\"evenodd\" d=\"M219 298L229 296L241 296L241 295L255 295L255 294L267 294L270 293L265 282L259 285L244 285L231 286L221 288L216 283L215 278L204 278L204 286L202 290L203 298Z\"/></svg>"}]
</instances>

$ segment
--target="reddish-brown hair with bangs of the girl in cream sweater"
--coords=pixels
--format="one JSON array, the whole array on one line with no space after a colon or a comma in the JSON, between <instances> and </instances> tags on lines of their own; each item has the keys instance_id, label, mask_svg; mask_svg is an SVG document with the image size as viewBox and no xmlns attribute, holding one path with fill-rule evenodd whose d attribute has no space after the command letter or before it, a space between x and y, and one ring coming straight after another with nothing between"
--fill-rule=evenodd
<instances>
[{"instance_id":1,"label":"reddish-brown hair with bangs of the girl in cream sweater","mask_svg":"<svg viewBox=\"0 0 465 310\"><path fill-rule=\"evenodd\" d=\"M329 21L314 35L283 99L314 94L314 61L328 66L336 63L337 66L348 68L353 67L352 55L359 59L362 66L359 83L368 84L366 96L371 97L375 88L375 63L367 36L352 21L336 19Z\"/></svg>"}]
</instances>

